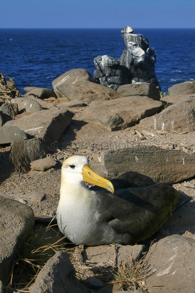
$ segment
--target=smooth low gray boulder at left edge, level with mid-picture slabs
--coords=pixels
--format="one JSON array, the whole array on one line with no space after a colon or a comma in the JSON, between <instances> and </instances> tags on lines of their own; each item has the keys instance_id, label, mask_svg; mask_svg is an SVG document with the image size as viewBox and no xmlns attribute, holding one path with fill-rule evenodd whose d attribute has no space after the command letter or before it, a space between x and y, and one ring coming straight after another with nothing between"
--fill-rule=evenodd
<instances>
[{"instance_id":1,"label":"smooth low gray boulder at left edge, level with mid-picture slabs","mask_svg":"<svg viewBox=\"0 0 195 293\"><path fill-rule=\"evenodd\" d=\"M23 130L17 126L0 127L0 144L11 144L19 140L27 139Z\"/></svg>"}]
</instances>

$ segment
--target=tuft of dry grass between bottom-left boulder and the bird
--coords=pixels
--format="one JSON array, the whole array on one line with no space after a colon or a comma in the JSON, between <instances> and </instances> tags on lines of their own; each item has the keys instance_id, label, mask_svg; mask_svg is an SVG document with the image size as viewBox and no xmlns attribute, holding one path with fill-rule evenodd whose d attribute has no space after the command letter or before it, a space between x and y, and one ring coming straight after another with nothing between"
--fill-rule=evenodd
<instances>
[{"instance_id":1,"label":"tuft of dry grass between bottom-left boulder and the bird","mask_svg":"<svg viewBox=\"0 0 195 293\"><path fill-rule=\"evenodd\" d=\"M63 240L66 236L56 242L47 237L48 230L54 230L53 226L55 225L31 231L23 251L13 263L12 272L9 277L9 287L5 287L6 291L13 292L13 290L18 291L19 288L29 287L35 282L38 273L47 263L47 260L58 250L64 249L66 243Z\"/></svg>"}]
</instances>

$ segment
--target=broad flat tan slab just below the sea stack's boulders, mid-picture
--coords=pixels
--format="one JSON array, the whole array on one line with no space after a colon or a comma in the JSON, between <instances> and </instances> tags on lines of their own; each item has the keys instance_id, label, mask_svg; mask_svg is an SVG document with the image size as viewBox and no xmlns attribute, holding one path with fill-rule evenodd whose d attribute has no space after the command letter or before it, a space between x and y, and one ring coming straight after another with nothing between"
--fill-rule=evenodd
<instances>
[{"instance_id":1,"label":"broad flat tan slab just below the sea stack's boulders, mid-picture","mask_svg":"<svg viewBox=\"0 0 195 293\"><path fill-rule=\"evenodd\" d=\"M160 101L148 97L130 96L110 101L93 101L77 118L102 125L110 131L125 129L144 117L154 115L161 107Z\"/></svg>"}]
</instances>

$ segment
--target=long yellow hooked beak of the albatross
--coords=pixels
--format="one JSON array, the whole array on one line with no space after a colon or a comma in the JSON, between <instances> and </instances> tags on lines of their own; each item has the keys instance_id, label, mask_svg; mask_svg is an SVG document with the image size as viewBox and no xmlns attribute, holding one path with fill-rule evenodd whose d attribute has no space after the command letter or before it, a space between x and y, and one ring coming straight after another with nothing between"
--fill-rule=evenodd
<instances>
[{"instance_id":1,"label":"long yellow hooked beak of the albatross","mask_svg":"<svg viewBox=\"0 0 195 293\"><path fill-rule=\"evenodd\" d=\"M89 182L91 184L98 185L100 187L103 187L107 189L108 191L114 193L114 186L112 182L109 180L99 176L97 173L95 173L90 166L84 165L82 170L83 180L85 182Z\"/></svg>"}]
</instances>

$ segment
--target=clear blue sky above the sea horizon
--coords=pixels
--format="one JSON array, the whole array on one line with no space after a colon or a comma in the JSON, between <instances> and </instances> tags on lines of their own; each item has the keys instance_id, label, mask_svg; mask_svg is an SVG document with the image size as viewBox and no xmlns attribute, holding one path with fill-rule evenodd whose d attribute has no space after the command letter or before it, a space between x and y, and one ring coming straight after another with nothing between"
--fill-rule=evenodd
<instances>
[{"instance_id":1,"label":"clear blue sky above the sea horizon","mask_svg":"<svg viewBox=\"0 0 195 293\"><path fill-rule=\"evenodd\" d=\"M0 28L194 28L194 0L5 0Z\"/></svg>"}]
</instances>

